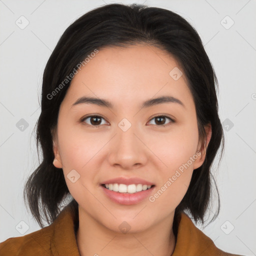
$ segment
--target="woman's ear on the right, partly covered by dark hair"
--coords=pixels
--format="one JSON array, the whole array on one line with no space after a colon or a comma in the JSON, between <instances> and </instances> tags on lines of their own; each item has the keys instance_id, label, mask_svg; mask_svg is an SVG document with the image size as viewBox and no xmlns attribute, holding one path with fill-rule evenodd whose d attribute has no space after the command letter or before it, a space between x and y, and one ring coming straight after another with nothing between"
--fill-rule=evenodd
<instances>
[{"instance_id":1,"label":"woman's ear on the right, partly covered by dark hair","mask_svg":"<svg viewBox=\"0 0 256 256\"><path fill-rule=\"evenodd\" d=\"M206 133L206 141L203 141L203 143L199 142L197 146L197 155L198 157L193 162L193 169L199 168L202 163L204 162L205 156L206 156L206 149L208 147L208 144L210 142L211 138L211 124L208 123L204 125L204 130Z\"/></svg>"}]
</instances>

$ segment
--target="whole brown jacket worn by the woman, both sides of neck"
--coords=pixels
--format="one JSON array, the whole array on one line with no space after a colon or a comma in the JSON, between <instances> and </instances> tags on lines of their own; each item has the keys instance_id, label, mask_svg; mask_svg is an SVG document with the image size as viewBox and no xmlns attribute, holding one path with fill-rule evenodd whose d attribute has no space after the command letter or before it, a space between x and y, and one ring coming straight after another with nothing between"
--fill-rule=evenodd
<instances>
[{"instance_id":1,"label":"whole brown jacket worn by the woman, both sides of neck","mask_svg":"<svg viewBox=\"0 0 256 256\"><path fill-rule=\"evenodd\" d=\"M218 249L213 241L181 213L172 256L239 256ZM0 256L79 256L69 205L48 226L0 243ZM157 255L155 255L157 256ZM241 255L240 255L241 256Z\"/></svg>"}]
</instances>

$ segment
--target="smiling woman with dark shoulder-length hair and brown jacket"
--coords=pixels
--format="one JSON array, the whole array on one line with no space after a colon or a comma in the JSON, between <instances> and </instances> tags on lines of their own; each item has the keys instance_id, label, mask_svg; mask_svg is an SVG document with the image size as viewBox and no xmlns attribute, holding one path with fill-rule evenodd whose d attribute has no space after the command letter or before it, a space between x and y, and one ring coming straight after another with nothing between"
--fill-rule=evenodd
<instances>
[{"instance_id":1,"label":"smiling woman with dark shoulder-length hair and brown jacket","mask_svg":"<svg viewBox=\"0 0 256 256\"><path fill-rule=\"evenodd\" d=\"M176 13L108 4L73 22L44 70L43 159L24 189L42 229L0 255L234 255L188 217L204 222L223 150L215 86Z\"/></svg>"}]
</instances>

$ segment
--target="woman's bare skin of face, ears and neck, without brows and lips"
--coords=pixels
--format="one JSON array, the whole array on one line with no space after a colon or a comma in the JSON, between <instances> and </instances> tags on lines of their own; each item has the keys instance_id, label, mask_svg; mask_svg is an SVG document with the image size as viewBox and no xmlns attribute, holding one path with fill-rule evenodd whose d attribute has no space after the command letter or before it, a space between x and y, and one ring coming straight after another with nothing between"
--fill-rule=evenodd
<instances>
[{"instance_id":1,"label":"woman's bare skin of face, ears and neck, without brows and lips","mask_svg":"<svg viewBox=\"0 0 256 256\"><path fill-rule=\"evenodd\" d=\"M154 46L106 47L71 81L59 109L53 164L63 169L67 187L79 205L81 255L166 256L173 252L174 210L193 170L203 163L211 136L210 125L205 126L206 144L200 143L192 94L184 73L178 80L169 75L174 67L178 67L176 60ZM107 99L114 107L71 106L84 95ZM168 102L141 109L144 100L162 95L173 96L184 106ZM103 116L97 127L91 118L81 121L96 114ZM153 117L160 115L175 122L166 118L157 123ZM118 126L123 118L131 123L127 131ZM153 195L197 151L201 155L154 202L146 198L123 205L102 192L100 182L124 176L153 182ZM74 183L67 178L72 169L80 174ZM130 225L125 234L118 228L123 221Z\"/></svg>"}]
</instances>

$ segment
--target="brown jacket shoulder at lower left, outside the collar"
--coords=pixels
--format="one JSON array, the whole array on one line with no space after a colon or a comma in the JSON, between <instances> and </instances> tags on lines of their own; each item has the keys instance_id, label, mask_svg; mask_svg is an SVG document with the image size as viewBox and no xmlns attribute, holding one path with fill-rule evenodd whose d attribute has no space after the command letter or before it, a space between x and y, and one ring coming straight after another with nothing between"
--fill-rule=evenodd
<instances>
[{"instance_id":1,"label":"brown jacket shoulder at lower left, outside the collar","mask_svg":"<svg viewBox=\"0 0 256 256\"><path fill-rule=\"evenodd\" d=\"M10 237L0 243L0 255L51 255L51 240L53 236L53 225L24 236Z\"/></svg>"}]
</instances>

